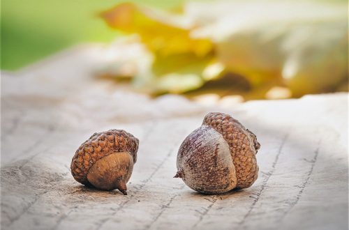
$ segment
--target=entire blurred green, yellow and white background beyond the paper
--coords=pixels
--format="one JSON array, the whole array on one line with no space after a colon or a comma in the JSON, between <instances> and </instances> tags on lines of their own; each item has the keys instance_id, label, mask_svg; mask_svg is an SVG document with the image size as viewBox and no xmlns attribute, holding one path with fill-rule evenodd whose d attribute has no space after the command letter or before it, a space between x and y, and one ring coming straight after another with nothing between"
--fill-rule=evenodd
<instances>
[{"instance_id":1,"label":"entire blurred green, yellow and white background beyond the paper","mask_svg":"<svg viewBox=\"0 0 349 230\"><path fill-rule=\"evenodd\" d=\"M348 91L347 1L1 1L1 70L96 42L96 77L151 95Z\"/></svg>"}]
</instances>

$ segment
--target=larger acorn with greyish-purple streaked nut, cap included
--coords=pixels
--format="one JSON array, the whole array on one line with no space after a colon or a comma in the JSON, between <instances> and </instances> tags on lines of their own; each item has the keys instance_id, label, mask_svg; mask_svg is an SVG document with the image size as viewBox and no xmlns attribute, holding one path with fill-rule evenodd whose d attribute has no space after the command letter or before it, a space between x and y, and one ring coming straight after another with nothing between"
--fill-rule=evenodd
<instances>
[{"instance_id":1,"label":"larger acorn with greyish-purple streaked nut, cap included","mask_svg":"<svg viewBox=\"0 0 349 230\"><path fill-rule=\"evenodd\" d=\"M258 177L255 135L223 113L209 113L179 147L176 178L201 193L250 187Z\"/></svg>"}]
</instances>

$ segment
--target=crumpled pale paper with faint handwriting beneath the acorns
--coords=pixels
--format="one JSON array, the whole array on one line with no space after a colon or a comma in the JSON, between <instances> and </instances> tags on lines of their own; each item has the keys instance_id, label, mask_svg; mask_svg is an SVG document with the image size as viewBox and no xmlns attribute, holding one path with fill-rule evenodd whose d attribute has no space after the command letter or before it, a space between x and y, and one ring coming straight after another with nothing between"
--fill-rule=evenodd
<instances>
[{"instance_id":1,"label":"crumpled pale paper with faint handwriting beneath the acorns","mask_svg":"<svg viewBox=\"0 0 349 230\"><path fill-rule=\"evenodd\" d=\"M94 79L102 54L78 47L2 73L1 229L348 229L348 94L230 107L151 99ZM217 111L257 135L260 174L203 195L172 177L181 141ZM140 139L127 196L70 174L78 146L110 128Z\"/></svg>"}]
</instances>

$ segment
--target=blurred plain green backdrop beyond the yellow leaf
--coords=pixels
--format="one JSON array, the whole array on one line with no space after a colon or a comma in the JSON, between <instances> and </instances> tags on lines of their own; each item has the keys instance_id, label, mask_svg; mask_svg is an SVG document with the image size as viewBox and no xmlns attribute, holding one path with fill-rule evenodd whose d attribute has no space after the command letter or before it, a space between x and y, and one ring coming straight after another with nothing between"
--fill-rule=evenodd
<instances>
[{"instance_id":1,"label":"blurred plain green backdrop beyond the yellow leaf","mask_svg":"<svg viewBox=\"0 0 349 230\"><path fill-rule=\"evenodd\" d=\"M17 70L77 43L112 41L118 32L96 14L121 2L1 0L1 70ZM132 2L174 8L184 0Z\"/></svg>"}]
</instances>

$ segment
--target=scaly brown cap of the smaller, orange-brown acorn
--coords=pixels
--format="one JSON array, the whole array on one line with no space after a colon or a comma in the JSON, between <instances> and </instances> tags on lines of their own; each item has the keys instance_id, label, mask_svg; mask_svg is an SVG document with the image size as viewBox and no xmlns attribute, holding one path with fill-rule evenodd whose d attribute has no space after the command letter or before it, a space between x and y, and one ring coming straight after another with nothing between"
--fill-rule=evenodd
<instances>
[{"instance_id":1,"label":"scaly brown cap of the smaller, orange-brown acorn","mask_svg":"<svg viewBox=\"0 0 349 230\"><path fill-rule=\"evenodd\" d=\"M133 163L137 161L138 139L124 130L96 132L77 149L71 161L71 174L75 181L91 185L87 173L97 160L118 152L128 152Z\"/></svg>"}]
</instances>

